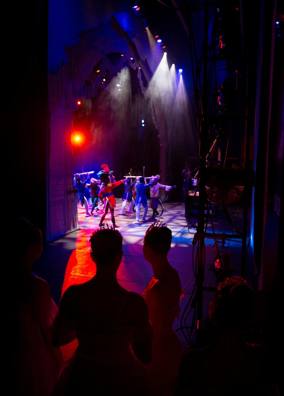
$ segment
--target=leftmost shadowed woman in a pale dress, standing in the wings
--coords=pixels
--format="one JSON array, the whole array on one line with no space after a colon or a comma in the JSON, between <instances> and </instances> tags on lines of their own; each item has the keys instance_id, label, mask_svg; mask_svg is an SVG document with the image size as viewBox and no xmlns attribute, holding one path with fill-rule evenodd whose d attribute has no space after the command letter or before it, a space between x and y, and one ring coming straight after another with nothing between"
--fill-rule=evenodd
<instances>
[{"instance_id":1,"label":"leftmost shadowed woman in a pale dress, standing in the wings","mask_svg":"<svg viewBox=\"0 0 284 396\"><path fill-rule=\"evenodd\" d=\"M40 229L23 217L14 227L14 251L5 259L10 270L1 274L2 378L9 394L50 396L63 363L59 348L51 344L58 308L48 283L32 271L42 253Z\"/></svg>"}]
</instances>

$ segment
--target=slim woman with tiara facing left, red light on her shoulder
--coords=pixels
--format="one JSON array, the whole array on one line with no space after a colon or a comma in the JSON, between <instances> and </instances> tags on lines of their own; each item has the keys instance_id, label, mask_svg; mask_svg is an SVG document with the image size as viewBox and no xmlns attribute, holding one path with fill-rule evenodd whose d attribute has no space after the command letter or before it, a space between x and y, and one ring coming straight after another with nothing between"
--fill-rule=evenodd
<instances>
[{"instance_id":1,"label":"slim woman with tiara facing left, red light on her shoulder","mask_svg":"<svg viewBox=\"0 0 284 396\"><path fill-rule=\"evenodd\" d=\"M172 394L170 386L177 378L183 357L181 343L172 329L180 312L179 299L183 293L179 275L167 258L171 240L172 231L163 223L156 222L148 228L143 242L144 257L154 272L143 293L153 327L153 357L145 367L153 396Z\"/></svg>"}]
</instances>

